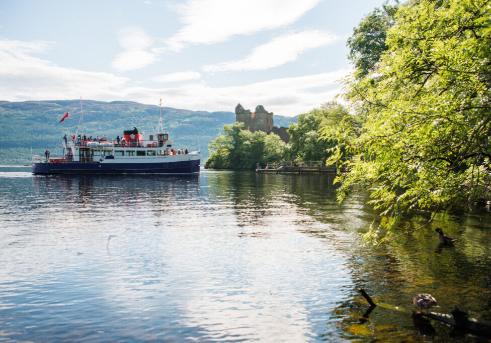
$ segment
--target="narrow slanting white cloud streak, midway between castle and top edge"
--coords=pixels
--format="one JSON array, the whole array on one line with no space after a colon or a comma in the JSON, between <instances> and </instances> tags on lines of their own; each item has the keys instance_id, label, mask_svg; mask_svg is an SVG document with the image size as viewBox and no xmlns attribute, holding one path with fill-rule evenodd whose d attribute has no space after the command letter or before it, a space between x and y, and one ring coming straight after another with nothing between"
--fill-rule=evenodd
<instances>
[{"instance_id":1,"label":"narrow slanting white cloud streak, midway between castle and top edge","mask_svg":"<svg viewBox=\"0 0 491 343\"><path fill-rule=\"evenodd\" d=\"M298 59L306 51L332 44L340 38L319 30L308 30L278 37L256 47L248 56L238 61L228 61L203 67L204 71L264 70Z\"/></svg>"}]
</instances>

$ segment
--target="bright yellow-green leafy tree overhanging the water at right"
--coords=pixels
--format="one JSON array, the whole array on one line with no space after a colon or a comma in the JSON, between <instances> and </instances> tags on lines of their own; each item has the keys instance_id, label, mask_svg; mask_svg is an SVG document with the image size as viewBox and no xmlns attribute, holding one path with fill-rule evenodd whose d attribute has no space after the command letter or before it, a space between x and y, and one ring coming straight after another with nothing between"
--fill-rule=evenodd
<instances>
[{"instance_id":1,"label":"bright yellow-green leafy tree overhanging the water at right","mask_svg":"<svg viewBox=\"0 0 491 343\"><path fill-rule=\"evenodd\" d=\"M411 1L394 18L376 73L346 80L367 112L362 135L328 135L363 154L341 162L351 169L338 177L339 198L372 187L383 218L366 238L377 243L394 240L413 209L491 200L491 2Z\"/></svg>"}]
</instances>

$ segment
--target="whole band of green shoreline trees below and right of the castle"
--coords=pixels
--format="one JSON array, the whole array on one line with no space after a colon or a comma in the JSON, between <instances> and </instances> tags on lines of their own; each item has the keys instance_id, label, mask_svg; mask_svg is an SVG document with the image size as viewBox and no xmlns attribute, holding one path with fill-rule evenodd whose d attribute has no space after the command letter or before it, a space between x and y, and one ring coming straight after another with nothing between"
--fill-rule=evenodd
<instances>
[{"instance_id":1,"label":"whole band of green shoreline trees below and right of the castle","mask_svg":"<svg viewBox=\"0 0 491 343\"><path fill-rule=\"evenodd\" d=\"M225 125L209 144L210 158L205 168L253 169L259 163L294 159L297 161L322 161L329 157L329 150L337 145L336 139L321 140L321 129L340 125L358 132L359 119L350 114L348 108L331 101L323 103L298 117L298 123L290 124L287 145L275 134L262 131L251 133L243 123Z\"/></svg>"}]
</instances>

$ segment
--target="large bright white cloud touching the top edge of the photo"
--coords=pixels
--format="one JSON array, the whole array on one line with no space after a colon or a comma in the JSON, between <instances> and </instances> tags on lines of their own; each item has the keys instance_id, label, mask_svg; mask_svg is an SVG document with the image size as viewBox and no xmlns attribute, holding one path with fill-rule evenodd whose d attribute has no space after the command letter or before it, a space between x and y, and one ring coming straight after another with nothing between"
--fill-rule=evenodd
<instances>
[{"instance_id":1,"label":"large bright white cloud touching the top edge of the photo","mask_svg":"<svg viewBox=\"0 0 491 343\"><path fill-rule=\"evenodd\" d=\"M188 0L178 7L184 27L166 42L174 50L289 25L320 0Z\"/></svg>"}]
</instances>

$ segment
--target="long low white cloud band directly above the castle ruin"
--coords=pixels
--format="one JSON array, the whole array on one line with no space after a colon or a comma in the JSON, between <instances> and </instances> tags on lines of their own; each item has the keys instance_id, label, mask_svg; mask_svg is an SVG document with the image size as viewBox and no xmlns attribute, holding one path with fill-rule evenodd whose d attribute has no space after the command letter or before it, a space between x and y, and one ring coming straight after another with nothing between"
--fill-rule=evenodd
<instances>
[{"instance_id":1,"label":"long low white cloud band directly above the castle ruin","mask_svg":"<svg viewBox=\"0 0 491 343\"><path fill-rule=\"evenodd\" d=\"M296 116L341 93L342 86L336 80L350 72L342 69L229 87L211 87L205 82L158 89L130 87L122 96L142 103L153 103L161 97L165 106L208 111L233 111L237 102L246 108L262 104L276 115Z\"/></svg>"}]
</instances>

